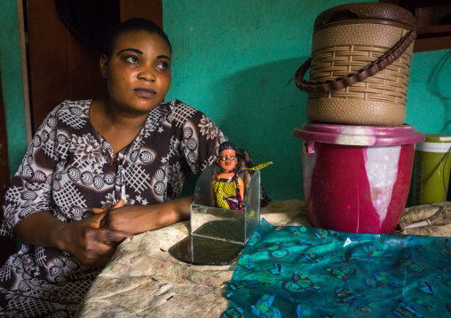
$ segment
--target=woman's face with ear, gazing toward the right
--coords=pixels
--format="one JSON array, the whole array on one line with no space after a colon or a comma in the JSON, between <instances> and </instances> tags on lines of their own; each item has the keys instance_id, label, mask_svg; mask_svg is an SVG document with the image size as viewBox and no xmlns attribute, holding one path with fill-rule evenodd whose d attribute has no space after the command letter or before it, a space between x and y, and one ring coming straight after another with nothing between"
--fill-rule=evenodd
<instances>
[{"instance_id":1,"label":"woman's face with ear, gazing toward the right","mask_svg":"<svg viewBox=\"0 0 451 318\"><path fill-rule=\"evenodd\" d=\"M170 89L170 47L160 35L133 31L119 35L111 56L100 58L112 106L150 112Z\"/></svg>"}]
</instances>

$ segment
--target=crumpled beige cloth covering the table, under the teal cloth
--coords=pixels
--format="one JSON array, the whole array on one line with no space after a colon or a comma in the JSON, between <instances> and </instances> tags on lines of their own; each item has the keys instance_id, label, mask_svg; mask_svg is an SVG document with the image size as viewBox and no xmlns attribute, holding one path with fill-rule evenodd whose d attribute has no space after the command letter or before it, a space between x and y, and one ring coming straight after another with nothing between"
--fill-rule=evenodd
<instances>
[{"instance_id":1,"label":"crumpled beige cloth covering the table, under the teal cloth","mask_svg":"<svg viewBox=\"0 0 451 318\"><path fill-rule=\"evenodd\" d=\"M437 205L407 208L401 221L431 217ZM302 201L271 202L261 217L274 226L311 226ZM451 237L451 203L431 227L395 233ZM79 317L221 317L226 311L226 283L236 260L227 266L190 265L170 256L168 250L188 235L182 222L129 237L92 284L79 307Z\"/></svg>"}]
</instances>

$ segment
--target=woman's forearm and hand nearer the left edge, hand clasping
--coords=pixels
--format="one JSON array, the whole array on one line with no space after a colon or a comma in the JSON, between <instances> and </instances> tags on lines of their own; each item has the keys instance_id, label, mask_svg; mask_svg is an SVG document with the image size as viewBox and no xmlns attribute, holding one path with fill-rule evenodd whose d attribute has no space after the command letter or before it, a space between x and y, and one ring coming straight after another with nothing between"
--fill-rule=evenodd
<instances>
[{"instance_id":1,"label":"woman's forearm and hand nearer the left edge, hand clasping","mask_svg":"<svg viewBox=\"0 0 451 318\"><path fill-rule=\"evenodd\" d=\"M105 213L75 222L59 221L48 211L32 213L14 228L15 234L28 244L57 248L91 267L103 267L115 253L116 243L127 234L99 229Z\"/></svg>"}]
</instances>

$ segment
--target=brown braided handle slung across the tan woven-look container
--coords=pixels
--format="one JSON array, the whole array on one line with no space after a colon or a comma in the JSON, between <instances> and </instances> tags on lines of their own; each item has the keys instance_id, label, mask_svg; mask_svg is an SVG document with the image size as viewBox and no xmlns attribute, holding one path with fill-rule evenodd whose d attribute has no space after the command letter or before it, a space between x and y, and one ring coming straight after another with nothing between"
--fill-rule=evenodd
<instances>
[{"instance_id":1,"label":"brown braided handle slung across the tan woven-look container","mask_svg":"<svg viewBox=\"0 0 451 318\"><path fill-rule=\"evenodd\" d=\"M375 61L368 64L368 66L361 68L359 71L346 74L334 80L305 81L305 73L307 73L312 62L312 58L309 58L301 67L299 67L295 74L296 86L298 89L305 90L307 93L327 93L332 89L343 89L345 87L352 86L358 81L365 81L368 77L373 76L384 70L387 66L392 65L392 63L400 58L402 53L407 50L409 45L415 41L415 38L415 30L411 30L381 58L377 58Z\"/></svg>"}]
</instances>

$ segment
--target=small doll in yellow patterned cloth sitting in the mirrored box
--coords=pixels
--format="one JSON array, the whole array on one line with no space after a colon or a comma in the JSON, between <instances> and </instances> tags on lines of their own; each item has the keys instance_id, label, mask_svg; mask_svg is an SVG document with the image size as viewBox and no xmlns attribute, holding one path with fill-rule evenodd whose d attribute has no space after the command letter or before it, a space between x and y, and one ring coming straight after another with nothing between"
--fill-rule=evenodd
<instances>
[{"instance_id":1,"label":"small doll in yellow patterned cloth sitting in the mirrored box","mask_svg":"<svg viewBox=\"0 0 451 318\"><path fill-rule=\"evenodd\" d=\"M257 167L249 169L243 168L235 172L237 165L237 148L232 142L219 144L219 156L216 160L220 171L215 175L215 180L211 182L211 198L213 206L222 207L229 210L241 211L244 208L244 182L240 175L271 165L267 162Z\"/></svg>"}]
</instances>

